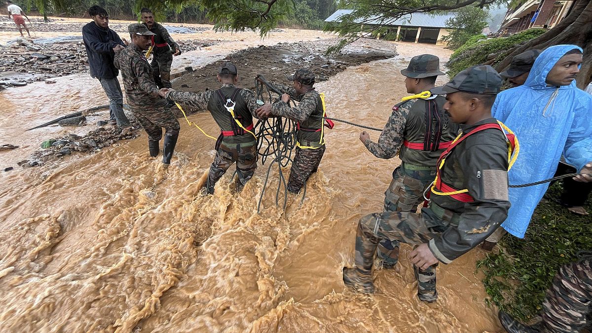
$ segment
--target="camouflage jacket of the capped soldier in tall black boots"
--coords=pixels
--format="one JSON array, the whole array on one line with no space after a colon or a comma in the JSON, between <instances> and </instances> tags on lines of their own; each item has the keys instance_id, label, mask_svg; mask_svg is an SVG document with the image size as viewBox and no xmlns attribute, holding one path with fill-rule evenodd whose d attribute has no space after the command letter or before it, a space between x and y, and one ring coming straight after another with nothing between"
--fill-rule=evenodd
<instances>
[{"instance_id":1,"label":"camouflage jacket of the capped soldier in tall black boots","mask_svg":"<svg viewBox=\"0 0 592 333\"><path fill-rule=\"evenodd\" d=\"M132 108L166 107L166 101L158 95L150 63L134 43L115 52L114 63L121 71L127 101Z\"/></svg>"}]
</instances>

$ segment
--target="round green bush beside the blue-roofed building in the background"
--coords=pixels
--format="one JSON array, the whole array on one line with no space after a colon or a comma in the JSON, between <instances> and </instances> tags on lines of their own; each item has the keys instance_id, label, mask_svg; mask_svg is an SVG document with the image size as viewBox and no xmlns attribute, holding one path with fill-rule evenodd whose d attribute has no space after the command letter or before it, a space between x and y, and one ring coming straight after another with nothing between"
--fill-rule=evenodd
<instances>
[{"instance_id":1,"label":"round green bush beside the blue-roofed building in the background","mask_svg":"<svg viewBox=\"0 0 592 333\"><path fill-rule=\"evenodd\" d=\"M480 34L487 27L489 14L478 7L464 7L456 11L456 16L446 21L448 27L453 28L448 36L442 37L448 42L448 47L455 50L466 43L475 34Z\"/></svg>"}]
</instances>

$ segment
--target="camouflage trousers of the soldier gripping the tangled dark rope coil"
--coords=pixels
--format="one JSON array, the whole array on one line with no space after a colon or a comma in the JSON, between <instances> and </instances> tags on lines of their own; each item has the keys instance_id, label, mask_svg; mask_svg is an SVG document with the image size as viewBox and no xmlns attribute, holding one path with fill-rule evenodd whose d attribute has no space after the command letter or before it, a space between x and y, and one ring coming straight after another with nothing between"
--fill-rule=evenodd
<instances>
[{"instance_id":1,"label":"camouflage trousers of the soldier gripping the tangled dark rope coil","mask_svg":"<svg viewBox=\"0 0 592 333\"><path fill-rule=\"evenodd\" d=\"M317 172L318 165L323 159L325 153L325 146L323 145L317 149L301 149L296 147L296 155L292 168L290 169L290 177L288 178L288 191L292 193L300 192L300 189L306 184L308 177L314 172Z\"/></svg>"}]
</instances>

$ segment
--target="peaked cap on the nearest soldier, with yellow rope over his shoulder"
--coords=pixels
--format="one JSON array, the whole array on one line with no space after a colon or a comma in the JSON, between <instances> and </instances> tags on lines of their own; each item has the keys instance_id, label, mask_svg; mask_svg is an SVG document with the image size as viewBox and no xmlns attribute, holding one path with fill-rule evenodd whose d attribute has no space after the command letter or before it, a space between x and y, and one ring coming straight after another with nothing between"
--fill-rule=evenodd
<instances>
[{"instance_id":1,"label":"peaked cap on the nearest soldier, with yellow rope over his shoulder","mask_svg":"<svg viewBox=\"0 0 592 333\"><path fill-rule=\"evenodd\" d=\"M462 91L469 94L495 95L500 92L501 76L489 65L472 66L456 74L452 81L430 89L432 94L443 95Z\"/></svg>"}]
</instances>

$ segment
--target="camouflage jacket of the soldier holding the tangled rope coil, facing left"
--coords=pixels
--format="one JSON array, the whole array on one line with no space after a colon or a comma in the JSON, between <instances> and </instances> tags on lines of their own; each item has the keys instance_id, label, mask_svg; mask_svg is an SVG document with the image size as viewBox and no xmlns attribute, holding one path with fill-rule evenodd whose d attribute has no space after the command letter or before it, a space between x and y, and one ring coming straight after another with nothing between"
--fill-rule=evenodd
<instances>
[{"instance_id":1,"label":"camouflage jacket of the soldier holding the tangled rope coil, facing left","mask_svg":"<svg viewBox=\"0 0 592 333\"><path fill-rule=\"evenodd\" d=\"M324 120L321 119L321 116L323 116L323 105L318 92L313 88L302 95L297 95L294 87L275 82L271 82L270 85L282 92L282 94L290 95L292 100L298 102L297 106L290 107L288 103L277 101L272 105L271 113L275 116L285 117L300 123L301 130L298 130L297 133L299 142L309 142L305 143L305 145L320 142L321 132L314 132L314 130L320 129L324 123ZM311 117L311 115L316 117Z\"/></svg>"}]
</instances>

